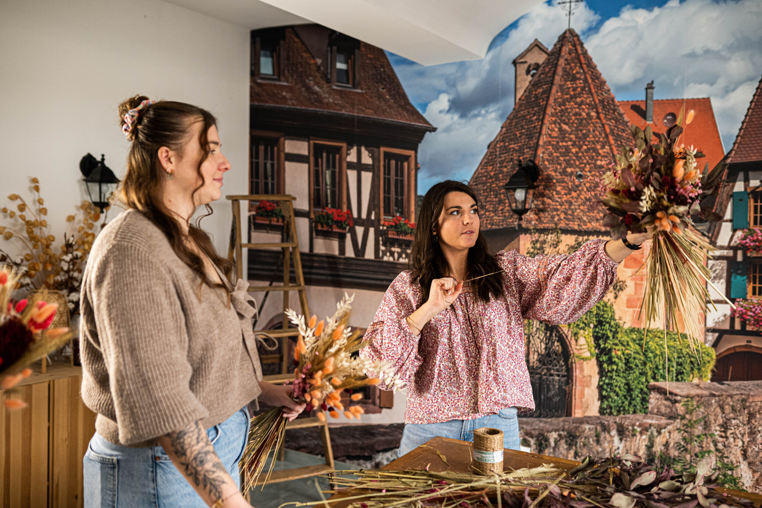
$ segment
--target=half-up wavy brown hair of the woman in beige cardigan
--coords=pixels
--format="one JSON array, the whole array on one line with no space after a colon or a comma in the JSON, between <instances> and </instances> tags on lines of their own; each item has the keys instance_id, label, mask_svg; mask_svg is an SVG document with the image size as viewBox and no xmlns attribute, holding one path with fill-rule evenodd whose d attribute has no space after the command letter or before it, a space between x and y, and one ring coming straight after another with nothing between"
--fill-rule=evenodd
<instances>
[{"instance_id":1,"label":"half-up wavy brown hair of the woman in beige cardigan","mask_svg":"<svg viewBox=\"0 0 762 508\"><path fill-rule=\"evenodd\" d=\"M124 115L127 111L135 109L147 99L148 97L143 95L136 95L119 105L119 117L122 126L125 124ZM130 153L127 155L126 174L120 184L119 194L127 208L138 210L164 232L174 253L197 273L202 284L210 287L223 287L227 291L226 286L212 283L203 268L203 260L188 246L190 240L203 254L209 257L213 264L223 270L226 277L230 277L232 262L217 255L212 241L199 225L201 219L212 215L212 207L208 204L205 205L207 213L200 216L195 224L189 225L186 236L178 223L178 219L164 206L161 196L162 180L166 178L167 173L158 161L158 149L166 146L168 149L182 153L191 133L191 126L197 122L203 123L199 134L199 145L203 150L203 155L197 170L201 184L194 189L191 195L191 199L193 199L193 196L204 184L201 165L209 155L207 132L217 124L217 120L207 110L174 101L158 101L150 104L141 110L139 116L133 121L127 136L127 139L132 141L132 145L130 146Z\"/></svg>"}]
</instances>

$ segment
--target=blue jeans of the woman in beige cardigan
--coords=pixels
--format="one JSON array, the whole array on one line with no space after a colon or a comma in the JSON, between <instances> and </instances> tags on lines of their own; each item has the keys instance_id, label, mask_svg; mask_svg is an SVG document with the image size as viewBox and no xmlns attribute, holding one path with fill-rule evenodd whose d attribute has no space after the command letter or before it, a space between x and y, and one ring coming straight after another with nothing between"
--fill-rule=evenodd
<instances>
[{"instance_id":1,"label":"blue jeans of the woman in beige cardigan","mask_svg":"<svg viewBox=\"0 0 762 508\"><path fill-rule=\"evenodd\" d=\"M248 427L248 410L244 407L207 429L214 451L236 484L240 481L238 463L248 439ZM95 433L83 462L85 508L207 508L162 446L128 448Z\"/></svg>"}]
</instances>

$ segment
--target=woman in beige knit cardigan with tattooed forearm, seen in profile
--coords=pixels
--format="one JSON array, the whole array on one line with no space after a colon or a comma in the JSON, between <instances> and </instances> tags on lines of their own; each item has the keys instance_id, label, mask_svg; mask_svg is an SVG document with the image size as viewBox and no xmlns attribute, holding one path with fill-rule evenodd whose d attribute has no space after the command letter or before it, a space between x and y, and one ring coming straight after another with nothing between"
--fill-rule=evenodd
<instances>
[{"instance_id":1,"label":"woman in beige knit cardigan with tattooed forearm, seen in profile","mask_svg":"<svg viewBox=\"0 0 762 508\"><path fill-rule=\"evenodd\" d=\"M191 223L230 164L207 110L135 96L126 207L94 242L82 283L82 400L98 413L85 506L250 506L238 462L247 404L304 409L262 380L248 283Z\"/></svg>"}]
</instances>

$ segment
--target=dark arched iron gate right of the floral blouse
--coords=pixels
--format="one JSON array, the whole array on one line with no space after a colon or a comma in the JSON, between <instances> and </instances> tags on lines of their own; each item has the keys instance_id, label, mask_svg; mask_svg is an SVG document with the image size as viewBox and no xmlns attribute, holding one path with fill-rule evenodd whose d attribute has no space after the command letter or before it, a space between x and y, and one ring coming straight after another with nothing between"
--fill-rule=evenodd
<instances>
[{"instance_id":1,"label":"dark arched iron gate right of the floral blouse","mask_svg":"<svg viewBox=\"0 0 762 508\"><path fill-rule=\"evenodd\" d=\"M562 348L559 327L540 321L524 321L535 411L524 415L533 418L566 416L568 393L568 358Z\"/></svg>"}]
</instances>

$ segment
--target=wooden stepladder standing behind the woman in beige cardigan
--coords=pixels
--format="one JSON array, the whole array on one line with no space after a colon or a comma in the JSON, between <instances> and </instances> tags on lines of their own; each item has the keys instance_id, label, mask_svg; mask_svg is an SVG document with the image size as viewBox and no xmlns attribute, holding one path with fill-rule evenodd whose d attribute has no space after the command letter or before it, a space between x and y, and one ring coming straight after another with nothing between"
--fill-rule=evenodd
<instances>
[{"instance_id":1,"label":"wooden stepladder standing behind the woman in beige cardigan","mask_svg":"<svg viewBox=\"0 0 762 508\"><path fill-rule=\"evenodd\" d=\"M226 196L226 199L230 200L232 204L233 222L230 230L230 245L228 251L228 259L233 262L235 268L235 276L237 278L244 278L245 273L243 269L242 249L243 248L281 248L283 249L283 285L280 286L249 286L249 292L267 292L267 291L282 291L283 292L283 329L282 330L255 330L257 332L264 332L271 337L280 338L280 355L263 355L261 357L262 363L276 363L280 362L281 374L265 375L264 380L274 384L283 384L288 379L293 379L293 374L289 374L289 347L288 337L295 337L299 334L299 330L289 327L289 321L286 317L286 310L289 308L289 292L299 292L299 303L302 306L302 314L309 316L309 306L307 305L307 292L306 285L304 283L304 274L302 272L302 258L299 254L299 238L296 235L296 219L293 213L293 201L296 200L294 196L288 194L248 194L243 196ZM251 201L279 201L280 210L283 212L283 228L287 234L288 241L279 241L271 243L242 243L240 232L242 231L243 222L241 220L241 202ZM248 228L248 221L246 226ZM293 255L293 267L296 273L296 285L291 284L290 280L290 264L291 256ZM280 471L273 471L267 484L279 483L281 481L296 480L298 478L308 478L315 476L315 474L322 474L326 471L331 471L334 468L333 450L331 449L331 435L328 433L328 423L322 422L318 418L297 418L287 423L286 429L304 429L307 427L322 427L322 441L325 449L325 464L321 465L309 465L303 468L282 469ZM285 451L281 446L278 451L280 460L285 457ZM261 483L259 483L261 485ZM248 492L245 493L246 499L249 499Z\"/></svg>"}]
</instances>

